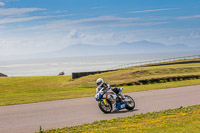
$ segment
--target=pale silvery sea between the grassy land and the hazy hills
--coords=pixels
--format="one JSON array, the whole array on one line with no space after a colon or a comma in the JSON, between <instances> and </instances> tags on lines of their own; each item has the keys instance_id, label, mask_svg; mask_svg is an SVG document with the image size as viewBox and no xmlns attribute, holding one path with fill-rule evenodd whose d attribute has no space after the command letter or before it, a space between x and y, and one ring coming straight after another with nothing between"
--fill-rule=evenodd
<instances>
[{"instance_id":1,"label":"pale silvery sea between the grassy land and the hazy hills","mask_svg":"<svg viewBox=\"0 0 200 133\"><path fill-rule=\"evenodd\" d=\"M12 76L56 76L64 71L72 72L108 70L135 62L199 55L200 52L149 53L131 55L107 55L92 57L62 57L51 59L0 61L0 73Z\"/></svg>"}]
</instances>

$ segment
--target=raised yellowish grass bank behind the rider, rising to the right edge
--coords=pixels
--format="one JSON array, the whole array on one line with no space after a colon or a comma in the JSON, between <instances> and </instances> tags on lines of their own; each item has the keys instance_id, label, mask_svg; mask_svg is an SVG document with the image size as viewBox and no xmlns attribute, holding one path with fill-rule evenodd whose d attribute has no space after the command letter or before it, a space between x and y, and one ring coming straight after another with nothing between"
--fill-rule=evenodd
<instances>
[{"instance_id":1,"label":"raised yellowish grass bank behind the rider, rising to the right edge","mask_svg":"<svg viewBox=\"0 0 200 133\"><path fill-rule=\"evenodd\" d=\"M95 80L99 77L111 85L137 82L138 80L173 77L183 75L200 75L200 63L177 64L153 67L133 67L128 70L118 70L96 75L90 75L64 83L61 87L96 87ZM87 82L88 86L85 86Z\"/></svg>"}]
</instances>

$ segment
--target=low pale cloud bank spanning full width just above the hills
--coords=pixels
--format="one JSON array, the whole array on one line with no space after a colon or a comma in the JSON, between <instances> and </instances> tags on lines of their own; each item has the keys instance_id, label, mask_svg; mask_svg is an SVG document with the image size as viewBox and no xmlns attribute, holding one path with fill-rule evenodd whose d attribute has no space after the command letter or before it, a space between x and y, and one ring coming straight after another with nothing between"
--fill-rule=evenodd
<instances>
[{"instance_id":1,"label":"low pale cloud bank spanning full width just above the hills","mask_svg":"<svg viewBox=\"0 0 200 133\"><path fill-rule=\"evenodd\" d=\"M73 44L115 45L120 42L149 40L167 45L198 46L200 29L138 29L131 31L42 31L24 35L3 35L0 31L0 55L31 54L65 48Z\"/></svg>"}]
</instances>

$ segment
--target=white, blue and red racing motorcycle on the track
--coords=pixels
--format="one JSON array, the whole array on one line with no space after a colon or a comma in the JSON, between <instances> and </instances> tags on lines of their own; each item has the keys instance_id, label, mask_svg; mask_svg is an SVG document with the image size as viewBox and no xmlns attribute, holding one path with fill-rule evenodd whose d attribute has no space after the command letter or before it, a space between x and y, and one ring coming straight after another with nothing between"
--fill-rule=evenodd
<instances>
[{"instance_id":1,"label":"white, blue and red racing motorcycle on the track","mask_svg":"<svg viewBox=\"0 0 200 133\"><path fill-rule=\"evenodd\" d=\"M121 97L122 88L118 89L118 92L114 92L114 89L102 88L95 95L96 101L98 101L99 108L104 113L110 113L121 109L133 110L135 108L135 101L128 95Z\"/></svg>"}]
</instances>

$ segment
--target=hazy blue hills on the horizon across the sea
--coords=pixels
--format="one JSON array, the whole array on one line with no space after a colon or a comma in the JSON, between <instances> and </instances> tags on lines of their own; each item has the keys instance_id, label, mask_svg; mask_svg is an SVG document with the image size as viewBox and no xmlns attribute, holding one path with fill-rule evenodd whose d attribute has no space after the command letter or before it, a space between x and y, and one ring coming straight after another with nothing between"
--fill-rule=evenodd
<instances>
[{"instance_id":1,"label":"hazy blue hills on the horizon across the sea","mask_svg":"<svg viewBox=\"0 0 200 133\"><path fill-rule=\"evenodd\" d=\"M113 54L138 54L138 53L157 53L157 52L183 52L200 51L200 47L191 48L184 44L165 45L157 42L139 41L122 42L118 45L88 45L75 44L62 50L54 51L51 55L55 56L94 56L94 55L113 55Z\"/></svg>"}]
</instances>

